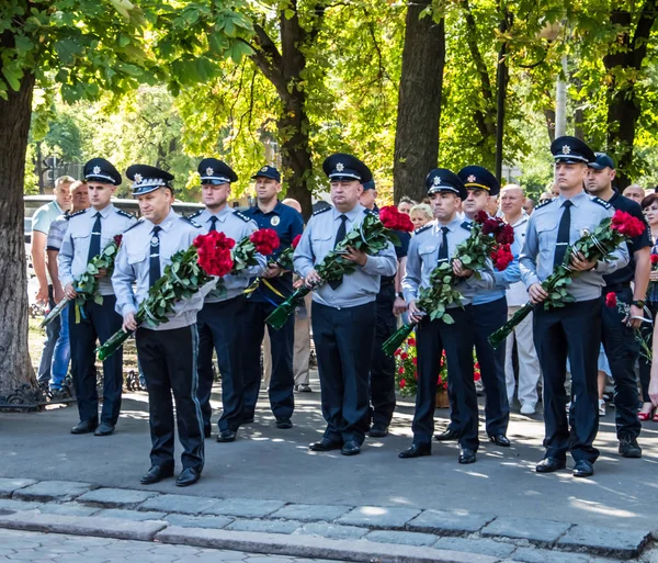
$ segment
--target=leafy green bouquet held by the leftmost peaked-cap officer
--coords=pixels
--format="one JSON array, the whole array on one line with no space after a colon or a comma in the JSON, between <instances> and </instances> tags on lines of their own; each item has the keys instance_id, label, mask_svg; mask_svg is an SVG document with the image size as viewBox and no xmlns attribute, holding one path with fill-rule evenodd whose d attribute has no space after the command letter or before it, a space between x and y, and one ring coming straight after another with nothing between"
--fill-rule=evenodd
<instances>
[{"instance_id":1,"label":"leafy green bouquet held by the leftmost peaked-cap officer","mask_svg":"<svg viewBox=\"0 0 658 563\"><path fill-rule=\"evenodd\" d=\"M78 296L75 299L76 302L76 323L80 323L80 317L84 318L84 309L82 305L87 301L93 301L99 305L103 303L103 296L99 293L99 272L105 271L105 275L112 275L114 270L114 259L118 252L121 246L122 235L116 235L100 255L94 256L87 264L87 270L80 275L80 279L73 284L73 289ZM73 301L69 297L64 297L57 305L55 305L50 312L42 320L39 328L45 327L48 323L56 319L65 307Z\"/></svg>"}]
</instances>

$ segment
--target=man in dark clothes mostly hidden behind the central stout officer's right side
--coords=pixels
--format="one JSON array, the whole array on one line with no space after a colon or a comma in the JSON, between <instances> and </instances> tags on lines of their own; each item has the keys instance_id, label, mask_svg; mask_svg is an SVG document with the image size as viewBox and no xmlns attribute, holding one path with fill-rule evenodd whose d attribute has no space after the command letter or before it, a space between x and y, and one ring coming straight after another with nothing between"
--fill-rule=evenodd
<instances>
[{"instance_id":1,"label":"man in dark clothes mostly hidden behind the central stout officer's right side","mask_svg":"<svg viewBox=\"0 0 658 563\"><path fill-rule=\"evenodd\" d=\"M376 204L377 190L375 181L371 180L363 184L363 193L360 203L364 207L379 213ZM400 240L399 246L395 246L395 254L398 259L398 275L401 278L405 272L405 258L409 249L409 233L396 230ZM388 426L393 420L395 412L395 359L384 353L382 345L396 331L397 318L394 314L396 299L396 278L397 275L382 275L379 293L377 293L377 328L375 330L375 347L373 349L373 364L371 367L371 438L385 438L388 436Z\"/></svg>"}]
</instances>

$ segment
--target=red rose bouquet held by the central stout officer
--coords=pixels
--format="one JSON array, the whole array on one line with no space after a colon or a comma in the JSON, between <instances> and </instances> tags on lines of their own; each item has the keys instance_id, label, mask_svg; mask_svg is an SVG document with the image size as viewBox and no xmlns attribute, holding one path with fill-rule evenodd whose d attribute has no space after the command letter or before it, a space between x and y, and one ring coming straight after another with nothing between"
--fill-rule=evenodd
<instances>
[{"instance_id":1,"label":"red rose bouquet held by the central stout officer","mask_svg":"<svg viewBox=\"0 0 658 563\"><path fill-rule=\"evenodd\" d=\"M361 224L354 225L345 238L321 262L315 266L316 272L322 279L322 284L341 280L344 274L355 270L355 264L342 256L349 246L374 256L386 248L389 241L399 246L400 241L396 230L410 233L413 230L413 223L409 215L400 213L395 205L382 207L378 217L374 213L367 213ZM273 328L281 328L310 291L306 285L296 290L272 312L265 322Z\"/></svg>"}]
</instances>

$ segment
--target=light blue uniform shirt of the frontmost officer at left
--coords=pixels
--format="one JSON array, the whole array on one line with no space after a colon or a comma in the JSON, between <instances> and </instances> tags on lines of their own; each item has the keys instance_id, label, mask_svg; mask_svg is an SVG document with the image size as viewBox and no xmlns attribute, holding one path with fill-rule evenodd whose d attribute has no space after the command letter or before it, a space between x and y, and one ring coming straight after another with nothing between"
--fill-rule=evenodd
<instances>
[{"instance_id":1,"label":"light blue uniform shirt of the frontmost officer at left","mask_svg":"<svg viewBox=\"0 0 658 563\"><path fill-rule=\"evenodd\" d=\"M139 304L148 297L150 270L150 240L155 224L140 219L123 235L121 248L114 262L112 285L116 294L115 311L124 316L136 313ZM201 227L194 225L173 211L160 223L160 273L171 263L171 257L179 250L186 250L194 239L201 235ZM213 284L215 281L212 282ZM135 289L133 290L133 284ZM204 286L205 289L205 286ZM168 323L154 327L148 322L144 326L151 330L171 330L196 323L196 313L203 306L203 291L195 293L189 300L179 301L173 312L167 315Z\"/></svg>"}]
</instances>

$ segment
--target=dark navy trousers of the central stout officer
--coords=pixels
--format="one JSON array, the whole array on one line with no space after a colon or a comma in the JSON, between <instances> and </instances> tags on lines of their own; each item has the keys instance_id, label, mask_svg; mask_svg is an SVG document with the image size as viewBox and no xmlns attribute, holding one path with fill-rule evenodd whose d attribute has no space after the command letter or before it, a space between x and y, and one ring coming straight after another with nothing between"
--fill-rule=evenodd
<instances>
[{"instance_id":1,"label":"dark navy trousers of the central stout officer","mask_svg":"<svg viewBox=\"0 0 658 563\"><path fill-rule=\"evenodd\" d=\"M313 302L310 322L328 440L361 444L365 439L376 311L374 301L344 308Z\"/></svg>"}]
</instances>

